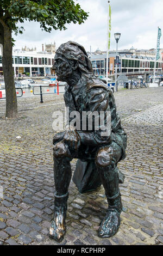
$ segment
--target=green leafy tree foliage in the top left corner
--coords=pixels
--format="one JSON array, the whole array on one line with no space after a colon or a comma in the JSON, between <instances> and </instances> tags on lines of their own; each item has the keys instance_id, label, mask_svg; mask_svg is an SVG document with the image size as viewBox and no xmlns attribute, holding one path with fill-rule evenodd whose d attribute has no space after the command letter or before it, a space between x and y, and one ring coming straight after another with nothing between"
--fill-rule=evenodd
<instances>
[{"instance_id":1,"label":"green leafy tree foliage in the top left corner","mask_svg":"<svg viewBox=\"0 0 163 256\"><path fill-rule=\"evenodd\" d=\"M83 23L88 14L73 0L1 0L0 22L7 25L15 34L23 33L24 28L17 22L26 20L40 22L42 30L66 29L68 23Z\"/></svg>"}]
</instances>

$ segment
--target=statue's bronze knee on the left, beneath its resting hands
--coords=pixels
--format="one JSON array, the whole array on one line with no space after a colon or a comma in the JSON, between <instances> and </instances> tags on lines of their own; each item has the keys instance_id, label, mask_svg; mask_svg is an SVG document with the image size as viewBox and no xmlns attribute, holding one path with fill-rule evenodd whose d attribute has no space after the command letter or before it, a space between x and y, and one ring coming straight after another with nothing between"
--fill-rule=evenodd
<instances>
[{"instance_id":1,"label":"statue's bronze knee on the left, beneath its resting hands","mask_svg":"<svg viewBox=\"0 0 163 256\"><path fill-rule=\"evenodd\" d=\"M59 142L55 144L53 148L53 156L56 158L68 157L70 156L70 151L68 150L68 145Z\"/></svg>"}]
</instances>

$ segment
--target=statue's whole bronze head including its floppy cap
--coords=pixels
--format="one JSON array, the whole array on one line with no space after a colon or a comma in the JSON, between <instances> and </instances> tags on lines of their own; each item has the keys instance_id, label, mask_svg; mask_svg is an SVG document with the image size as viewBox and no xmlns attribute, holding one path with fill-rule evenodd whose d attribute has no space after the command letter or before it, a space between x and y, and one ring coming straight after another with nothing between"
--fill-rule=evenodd
<instances>
[{"instance_id":1,"label":"statue's whole bronze head including its floppy cap","mask_svg":"<svg viewBox=\"0 0 163 256\"><path fill-rule=\"evenodd\" d=\"M92 72L92 64L82 45L68 41L61 44L55 53L52 69L55 70L59 81L66 81L74 70L78 69L81 73Z\"/></svg>"}]
</instances>

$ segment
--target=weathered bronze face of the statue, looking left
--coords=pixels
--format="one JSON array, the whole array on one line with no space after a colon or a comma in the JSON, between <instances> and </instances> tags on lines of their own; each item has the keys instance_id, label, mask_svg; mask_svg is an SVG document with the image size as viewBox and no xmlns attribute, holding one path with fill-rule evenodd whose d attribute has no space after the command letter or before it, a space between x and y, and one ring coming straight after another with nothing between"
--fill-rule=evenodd
<instances>
[{"instance_id":1,"label":"weathered bronze face of the statue, looking left","mask_svg":"<svg viewBox=\"0 0 163 256\"><path fill-rule=\"evenodd\" d=\"M72 74L72 68L68 59L58 53L55 54L53 69L57 74L58 81L64 82Z\"/></svg>"}]
</instances>

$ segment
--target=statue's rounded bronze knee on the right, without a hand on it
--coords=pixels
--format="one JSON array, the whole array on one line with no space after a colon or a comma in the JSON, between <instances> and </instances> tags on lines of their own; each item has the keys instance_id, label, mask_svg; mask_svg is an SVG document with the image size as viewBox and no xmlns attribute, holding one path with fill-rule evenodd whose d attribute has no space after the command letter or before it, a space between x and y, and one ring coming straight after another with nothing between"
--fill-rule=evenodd
<instances>
[{"instance_id":1,"label":"statue's rounded bronze knee on the right, without a hand on it","mask_svg":"<svg viewBox=\"0 0 163 256\"><path fill-rule=\"evenodd\" d=\"M96 156L96 165L99 167L113 166L114 162L112 161L111 155L108 151L100 150Z\"/></svg>"}]
</instances>

